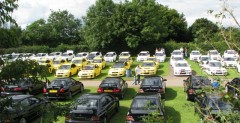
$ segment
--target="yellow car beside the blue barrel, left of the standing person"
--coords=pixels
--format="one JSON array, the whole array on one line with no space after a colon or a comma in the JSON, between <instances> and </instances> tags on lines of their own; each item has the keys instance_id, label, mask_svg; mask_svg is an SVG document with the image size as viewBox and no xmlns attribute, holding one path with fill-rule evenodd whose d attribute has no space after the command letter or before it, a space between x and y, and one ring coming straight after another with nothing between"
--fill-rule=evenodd
<instances>
[{"instance_id":1,"label":"yellow car beside the blue barrel, left of the standing person","mask_svg":"<svg viewBox=\"0 0 240 123\"><path fill-rule=\"evenodd\" d=\"M130 66L127 62L118 61L116 62L108 71L109 76L125 76L126 70L129 69Z\"/></svg>"}]
</instances>

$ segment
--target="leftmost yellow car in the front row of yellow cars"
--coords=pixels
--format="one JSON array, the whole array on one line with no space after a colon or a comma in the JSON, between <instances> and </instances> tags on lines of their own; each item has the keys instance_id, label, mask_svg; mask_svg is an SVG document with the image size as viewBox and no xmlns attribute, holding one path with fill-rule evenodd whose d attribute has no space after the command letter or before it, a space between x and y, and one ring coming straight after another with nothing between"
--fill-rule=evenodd
<instances>
[{"instance_id":1,"label":"leftmost yellow car in the front row of yellow cars","mask_svg":"<svg viewBox=\"0 0 240 123\"><path fill-rule=\"evenodd\" d=\"M63 64L56 71L56 77L71 77L78 73L78 67L75 64Z\"/></svg>"}]
</instances>

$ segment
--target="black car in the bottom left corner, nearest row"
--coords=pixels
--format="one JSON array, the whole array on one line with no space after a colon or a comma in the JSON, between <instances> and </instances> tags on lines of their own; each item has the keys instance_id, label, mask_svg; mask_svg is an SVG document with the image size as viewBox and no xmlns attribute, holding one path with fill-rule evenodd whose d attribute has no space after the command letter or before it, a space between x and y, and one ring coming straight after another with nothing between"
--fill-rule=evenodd
<instances>
[{"instance_id":1,"label":"black car in the bottom left corner, nearest row","mask_svg":"<svg viewBox=\"0 0 240 123\"><path fill-rule=\"evenodd\" d=\"M12 95L1 101L11 100L10 106L0 114L2 123L28 123L41 115L41 110L46 109L48 101L33 95Z\"/></svg>"}]
</instances>

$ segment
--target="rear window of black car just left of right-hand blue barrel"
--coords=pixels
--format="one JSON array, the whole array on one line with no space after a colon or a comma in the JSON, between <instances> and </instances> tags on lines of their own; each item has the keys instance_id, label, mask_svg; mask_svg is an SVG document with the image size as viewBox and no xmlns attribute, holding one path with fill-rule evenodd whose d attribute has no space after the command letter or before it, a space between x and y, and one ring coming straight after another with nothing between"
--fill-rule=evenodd
<instances>
[{"instance_id":1,"label":"rear window of black car just left of right-hand blue barrel","mask_svg":"<svg viewBox=\"0 0 240 123\"><path fill-rule=\"evenodd\" d=\"M211 81L206 77L193 77L191 79L192 88L201 89L205 86L211 86Z\"/></svg>"}]
</instances>

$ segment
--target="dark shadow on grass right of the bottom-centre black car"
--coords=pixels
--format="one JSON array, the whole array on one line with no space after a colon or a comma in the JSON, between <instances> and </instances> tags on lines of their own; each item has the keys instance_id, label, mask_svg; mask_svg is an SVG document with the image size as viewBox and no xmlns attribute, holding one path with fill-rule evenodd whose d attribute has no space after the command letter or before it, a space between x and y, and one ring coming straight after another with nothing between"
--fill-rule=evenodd
<instances>
[{"instance_id":1,"label":"dark shadow on grass right of the bottom-centre black car","mask_svg":"<svg viewBox=\"0 0 240 123\"><path fill-rule=\"evenodd\" d=\"M181 115L172 107L165 106L167 123L181 123Z\"/></svg>"}]
</instances>

